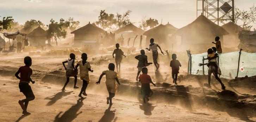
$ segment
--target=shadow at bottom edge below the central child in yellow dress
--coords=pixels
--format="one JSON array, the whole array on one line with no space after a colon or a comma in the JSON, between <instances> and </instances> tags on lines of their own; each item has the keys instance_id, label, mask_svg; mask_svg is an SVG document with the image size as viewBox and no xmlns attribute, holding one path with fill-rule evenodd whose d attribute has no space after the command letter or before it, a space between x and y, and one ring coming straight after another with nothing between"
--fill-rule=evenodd
<instances>
[{"instance_id":1,"label":"shadow at bottom edge below the central child in yellow dress","mask_svg":"<svg viewBox=\"0 0 256 122\"><path fill-rule=\"evenodd\" d=\"M108 109L105 110L104 115L101 117L99 122L111 122L115 117L115 110L110 110L111 106L108 107ZM117 120L117 117L115 117L114 121Z\"/></svg>"}]
</instances>

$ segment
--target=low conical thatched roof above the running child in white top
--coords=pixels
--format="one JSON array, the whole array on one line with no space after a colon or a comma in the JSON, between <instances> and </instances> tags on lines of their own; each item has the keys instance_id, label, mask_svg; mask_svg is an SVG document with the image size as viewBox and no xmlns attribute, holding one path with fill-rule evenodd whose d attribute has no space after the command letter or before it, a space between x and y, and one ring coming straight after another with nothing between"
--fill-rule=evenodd
<instances>
[{"instance_id":1,"label":"low conical thatched roof above the running child in white top","mask_svg":"<svg viewBox=\"0 0 256 122\"><path fill-rule=\"evenodd\" d=\"M143 35L145 35L145 36L168 35L168 34L172 34L174 32L175 32L174 29L170 29L167 26L160 24L155 28L145 31L145 33Z\"/></svg>"}]
</instances>

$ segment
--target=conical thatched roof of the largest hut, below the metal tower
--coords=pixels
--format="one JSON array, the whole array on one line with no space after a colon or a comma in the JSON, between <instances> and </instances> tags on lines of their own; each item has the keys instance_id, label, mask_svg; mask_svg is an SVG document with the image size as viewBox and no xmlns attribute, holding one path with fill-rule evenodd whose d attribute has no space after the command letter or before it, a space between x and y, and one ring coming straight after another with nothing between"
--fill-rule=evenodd
<instances>
[{"instance_id":1,"label":"conical thatched roof of the largest hut, below the metal tower","mask_svg":"<svg viewBox=\"0 0 256 122\"><path fill-rule=\"evenodd\" d=\"M221 36L229 34L224 28L218 26L204 15L200 15L192 23L178 29L176 36Z\"/></svg>"}]
</instances>

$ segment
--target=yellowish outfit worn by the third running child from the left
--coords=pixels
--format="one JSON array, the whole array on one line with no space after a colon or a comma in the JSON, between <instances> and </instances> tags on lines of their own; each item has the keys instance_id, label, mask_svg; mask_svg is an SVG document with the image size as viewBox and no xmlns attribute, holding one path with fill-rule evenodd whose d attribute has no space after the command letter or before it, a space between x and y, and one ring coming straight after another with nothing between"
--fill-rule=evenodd
<instances>
[{"instance_id":1,"label":"yellowish outfit worn by the third running child from the left","mask_svg":"<svg viewBox=\"0 0 256 122\"><path fill-rule=\"evenodd\" d=\"M92 66L90 66L90 62L86 62L85 65L83 65L83 61L80 60L78 62L79 64L79 74L80 74L80 79L81 80L86 80L89 84L90 82L90 78L89 78L89 70L88 68L92 68Z\"/></svg>"}]
</instances>

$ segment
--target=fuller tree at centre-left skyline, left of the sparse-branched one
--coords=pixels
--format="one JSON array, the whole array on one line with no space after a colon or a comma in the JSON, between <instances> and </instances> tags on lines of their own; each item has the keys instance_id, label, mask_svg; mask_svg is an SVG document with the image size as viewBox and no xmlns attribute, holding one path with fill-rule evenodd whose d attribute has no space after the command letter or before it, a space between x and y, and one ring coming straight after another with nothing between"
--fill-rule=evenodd
<instances>
[{"instance_id":1,"label":"fuller tree at centre-left skyline, left of the sparse-branched one","mask_svg":"<svg viewBox=\"0 0 256 122\"><path fill-rule=\"evenodd\" d=\"M98 21L95 24L102 29L111 28L117 22L114 17L114 14L108 14L105 10L100 10L100 16L98 16Z\"/></svg>"}]
</instances>

